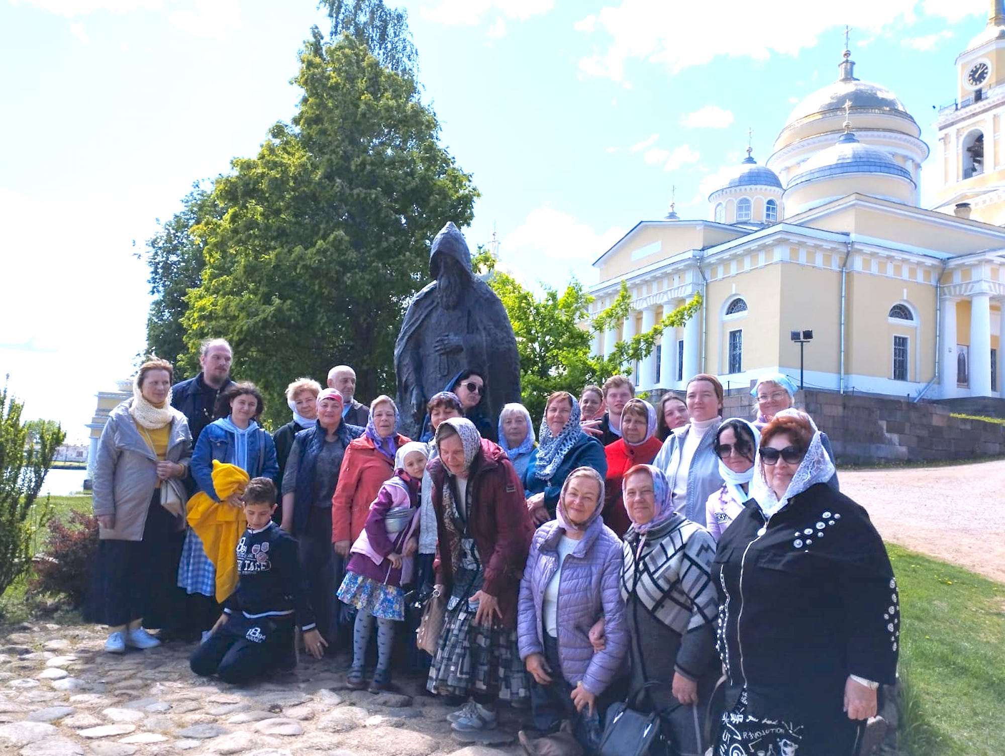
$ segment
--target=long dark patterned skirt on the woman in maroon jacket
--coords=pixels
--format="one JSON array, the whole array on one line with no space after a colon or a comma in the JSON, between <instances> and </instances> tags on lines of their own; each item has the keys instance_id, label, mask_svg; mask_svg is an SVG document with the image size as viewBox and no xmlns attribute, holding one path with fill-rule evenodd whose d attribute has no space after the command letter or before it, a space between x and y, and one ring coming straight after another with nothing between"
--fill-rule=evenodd
<instances>
[{"instance_id":1,"label":"long dark patterned skirt on the woman in maroon jacket","mask_svg":"<svg viewBox=\"0 0 1005 756\"><path fill-rule=\"evenodd\" d=\"M529 700L530 676L517 649L517 630L475 624L467 601L447 609L426 689L438 696L488 693L501 701Z\"/></svg>"}]
</instances>

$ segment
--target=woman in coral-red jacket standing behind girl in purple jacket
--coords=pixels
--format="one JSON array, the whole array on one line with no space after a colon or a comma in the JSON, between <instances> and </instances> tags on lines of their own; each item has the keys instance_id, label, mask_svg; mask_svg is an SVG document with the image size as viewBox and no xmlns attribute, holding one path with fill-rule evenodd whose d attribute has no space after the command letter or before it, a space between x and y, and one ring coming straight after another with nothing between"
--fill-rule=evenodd
<instances>
[{"instance_id":1,"label":"woman in coral-red jacket standing behind girl in purple jacket","mask_svg":"<svg viewBox=\"0 0 1005 756\"><path fill-rule=\"evenodd\" d=\"M346 448L332 497L332 543L343 559L349 558L349 548L363 532L381 485L394 475L398 447L411 440L397 431L398 407L382 394L370 403L367 429Z\"/></svg>"}]
</instances>

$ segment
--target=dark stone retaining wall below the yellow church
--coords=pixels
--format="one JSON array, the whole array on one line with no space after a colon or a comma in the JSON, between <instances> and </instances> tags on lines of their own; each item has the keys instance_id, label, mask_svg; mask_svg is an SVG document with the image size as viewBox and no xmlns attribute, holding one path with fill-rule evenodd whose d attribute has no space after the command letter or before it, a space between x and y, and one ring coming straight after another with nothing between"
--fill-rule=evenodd
<instances>
[{"instance_id":1,"label":"dark stone retaining wall below the yellow church","mask_svg":"<svg viewBox=\"0 0 1005 756\"><path fill-rule=\"evenodd\" d=\"M807 389L797 397L797 404L830 436L838 465L1005 454L1005 425L952 417L951 412L960 409L944 403L916 404L903 399ZM724 413L726 417L752 419L749 390L730 391Z\"/></svg>"}]
</instances>

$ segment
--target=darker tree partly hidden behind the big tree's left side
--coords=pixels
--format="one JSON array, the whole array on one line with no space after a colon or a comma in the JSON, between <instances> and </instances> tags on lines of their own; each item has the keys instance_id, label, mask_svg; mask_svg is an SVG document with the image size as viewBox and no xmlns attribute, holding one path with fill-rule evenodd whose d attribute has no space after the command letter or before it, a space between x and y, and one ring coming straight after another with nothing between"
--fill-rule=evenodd
<instances>
[{"instance_id":1,"label":"darker tree partly hidden behind the big tree's left side","mask_svg":"<svg viewBox=\"0 0 1005 756\"><path fill-rule=\"evenodd\" d=\"M188 311L189 291L202 281L203 240L193 228L211 217L209 190L197 182L182 200L184 208L161 225L147 241L150 293L154 302L147 316L147 354L175 363L175 380L188 378L193 364L187 356L182 317ZM157 220L160 223L160 218Z\"/></svg>"}]
</instances>

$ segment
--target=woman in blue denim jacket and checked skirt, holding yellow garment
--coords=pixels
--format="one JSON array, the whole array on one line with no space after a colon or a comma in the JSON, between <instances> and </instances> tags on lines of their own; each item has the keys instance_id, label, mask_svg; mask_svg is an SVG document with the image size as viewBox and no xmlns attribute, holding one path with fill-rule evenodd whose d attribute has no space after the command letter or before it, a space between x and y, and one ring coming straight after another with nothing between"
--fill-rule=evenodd
<instances>
[{"instance_id":1,"label":"woman in blue denim jacket and checked skirt, holding yellow garment","mask_svg":"<svg viewBox=\"0 0 1005 756\"><path fill-rule=\"evenodd\" d=\"M220 396L217 415L199 434L192 453L192 478L199 491L214 501L220 501L213 489L213 460L236 464L249 478L264 477L273 482L279 475L272 436L257 423L265 408L261 393L253 383L235 383ZM226 500L231 507L241 506L241 497L234 494ZM190 610L197 614L199 629L205 635L220 615L216 603L216 571L202 547L199 536L189 528L185 534L178 585L195 598Z\"/></svg>"}]
</instances>

